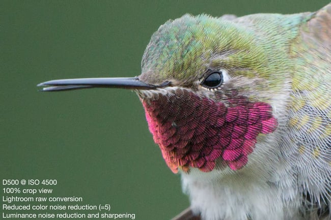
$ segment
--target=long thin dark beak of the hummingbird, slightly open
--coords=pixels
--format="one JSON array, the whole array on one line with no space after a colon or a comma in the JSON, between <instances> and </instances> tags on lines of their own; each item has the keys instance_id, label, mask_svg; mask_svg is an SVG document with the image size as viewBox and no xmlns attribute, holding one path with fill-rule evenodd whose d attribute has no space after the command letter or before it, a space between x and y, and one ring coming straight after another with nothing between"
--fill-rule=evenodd
<instances>
[{"instance_id":1,"label":"long thin dark beak of the hummingbird, slightly open","mask_svg":"<svg viewBox=\"0 0 331 220\"><path fill-rule=\"evenodd\" d=\"M126 88L126 89L156 89L169 86L170 82L160 85L151 85L140 81L138 77L132 78L81 78L58 79L39 83L45 86L41 91L65 91L82 88Z\"/></svg>"}]
</instances>

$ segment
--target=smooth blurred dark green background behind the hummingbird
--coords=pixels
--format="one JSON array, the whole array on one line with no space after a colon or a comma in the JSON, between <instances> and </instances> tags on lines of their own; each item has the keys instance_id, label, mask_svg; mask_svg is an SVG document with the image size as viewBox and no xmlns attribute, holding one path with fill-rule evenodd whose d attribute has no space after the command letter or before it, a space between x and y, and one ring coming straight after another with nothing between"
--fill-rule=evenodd
<instances>
[{"instance_id":1,"label":"smooth blurred dark green background behind the hummingbird","mask_svg":"<svg viewBox=\"0 0 331 220\"><path fill-rule=\"evenodd\" d=\"M296 13L328 2L1 1L1 179L57 179L52 196L111 204L111 212L135 219L170 219L188 199L135 93L42 93L37 83L139 75L150 36L185 13Z\"/></svg>"}]
</instances>

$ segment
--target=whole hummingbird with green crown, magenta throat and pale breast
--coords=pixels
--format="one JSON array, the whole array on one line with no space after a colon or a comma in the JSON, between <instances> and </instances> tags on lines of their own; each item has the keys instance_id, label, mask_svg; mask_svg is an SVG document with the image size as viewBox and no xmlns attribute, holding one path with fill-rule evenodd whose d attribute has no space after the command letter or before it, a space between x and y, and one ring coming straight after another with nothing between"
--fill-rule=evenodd
<instances>
[{"instance_id":1,"label":"whole hummingbird with green crown, magenta throat and pale breast","mask_svg":"<svg viewBox=\"0 0 331 220\"><path fill-rule=\"evenodd\" d=\"M42 91L137 93L190 207L174 219L331 219L331 4L317 12L169 20L142 73Z\"/></svg>"}]
</instances>

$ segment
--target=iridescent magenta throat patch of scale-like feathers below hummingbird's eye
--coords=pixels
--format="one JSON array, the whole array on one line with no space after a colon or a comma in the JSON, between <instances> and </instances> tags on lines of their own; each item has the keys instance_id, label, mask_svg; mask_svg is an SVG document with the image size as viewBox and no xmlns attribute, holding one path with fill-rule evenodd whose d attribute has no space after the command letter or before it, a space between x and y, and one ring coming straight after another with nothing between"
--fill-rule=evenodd
<instances>
[{"instance_id":1,"label":"iridescent magenta throat patch of scale-like feathers below hummingbird's eye","mask_svg":"<svg viewBox=\"0 0 331 220\"><path fill-rule=\"evenodd\" d=\"M180 89L176 95L142 102L153 139L174 173L189 167L209 172L219 159L232 170L241 169L257 136L272 133L278 125L269 104L245 97L229 99L227 107Z\"/></svg>"}]
</instances>

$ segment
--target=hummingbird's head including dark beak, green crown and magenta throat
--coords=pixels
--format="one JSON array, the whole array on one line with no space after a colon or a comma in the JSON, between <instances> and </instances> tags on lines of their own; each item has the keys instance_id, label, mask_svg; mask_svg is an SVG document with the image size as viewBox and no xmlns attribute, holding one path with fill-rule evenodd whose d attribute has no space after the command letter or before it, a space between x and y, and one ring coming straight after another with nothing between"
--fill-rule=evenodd
<instances>
[{"instance_id":1,"label":"hummingbird's head including dark beak, green crown and magenta throat","mask_svg":"<svg viewBox=\"0 0 331 220\"><path fill-rule=\"evenodd\" d=\"M49 86L45 91L134 89L153 139L173 172L190 168L209 172L227 166L239 170L258 138L278 126L272 96L282 84L273 76L280 70L273 69L261 41L232 21L184 15L153 34L142 74L136 78L53 80L39 85Z\"/></svg>"}]
</instances>

